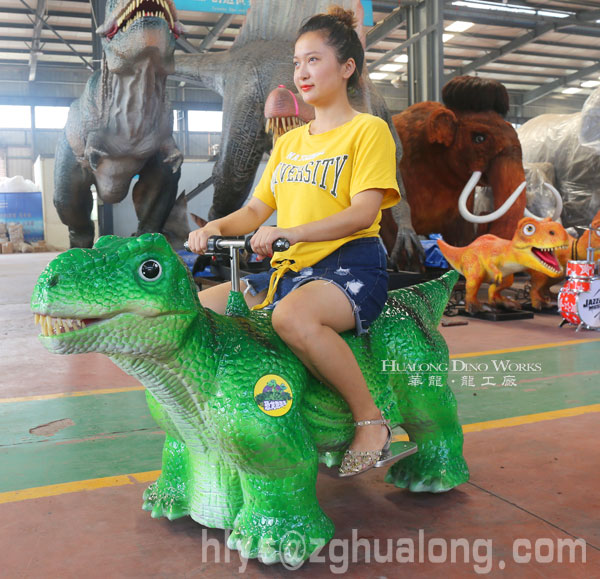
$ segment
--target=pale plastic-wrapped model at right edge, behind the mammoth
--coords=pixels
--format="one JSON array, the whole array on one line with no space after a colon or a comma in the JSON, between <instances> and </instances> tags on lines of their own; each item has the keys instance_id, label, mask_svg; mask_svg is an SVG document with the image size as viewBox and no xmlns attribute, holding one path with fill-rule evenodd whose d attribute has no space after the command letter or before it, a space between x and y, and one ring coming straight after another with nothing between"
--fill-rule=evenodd
<instances>
[{"instance_id":1,"label":"pale plastic-wrapped model at right edge, behind the mammoth","mask_svg":"<svg viewBox=\"0 0 600 579\"><path fill-rule=\"evenodd\" d=\"M563 200L563 225L589 225L600 210L600 89L581 112L539 115L517 133L524 162L552 165Z\"/></svg>"}]
</instances>

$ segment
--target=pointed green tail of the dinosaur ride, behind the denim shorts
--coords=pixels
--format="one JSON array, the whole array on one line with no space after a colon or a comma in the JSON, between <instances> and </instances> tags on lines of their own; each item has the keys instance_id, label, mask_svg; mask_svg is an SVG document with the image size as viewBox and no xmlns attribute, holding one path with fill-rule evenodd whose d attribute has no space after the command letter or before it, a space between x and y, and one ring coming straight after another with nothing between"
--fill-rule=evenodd
<instances>
[{"instance_id":1,"label":"pointed green tail of the dinosaur ride, behind the denim shorts","mask_svg":"<svg viewBox=\"0 0 600 579\"><path fill-rule=\"evenodd\" d=\"M458 272L450 270L437 279L391 291L388 303L404 310L415 322L437 328L458 277Z\"/></svg>"}]
</instances>

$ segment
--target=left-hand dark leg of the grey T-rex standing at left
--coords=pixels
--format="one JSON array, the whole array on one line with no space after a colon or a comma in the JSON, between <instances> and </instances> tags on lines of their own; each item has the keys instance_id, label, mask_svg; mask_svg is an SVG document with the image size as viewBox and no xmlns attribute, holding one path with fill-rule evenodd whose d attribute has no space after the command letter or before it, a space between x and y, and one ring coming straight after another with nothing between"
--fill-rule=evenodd
<instances>
[{"instance_id":1,"label":"left-hand dark leg of the grey T-rex standing at left","mask_svg":"<svg viewBox=\"0 0 600 579\"><path fill-rule=\"evenodd\" d=\"M54 167L54 206L60 220L69 228L70 245L92 247L94 200L90 187L93 180L91 173L77 162L64 133L56 148Z\"/></svg>"}]
</instances>

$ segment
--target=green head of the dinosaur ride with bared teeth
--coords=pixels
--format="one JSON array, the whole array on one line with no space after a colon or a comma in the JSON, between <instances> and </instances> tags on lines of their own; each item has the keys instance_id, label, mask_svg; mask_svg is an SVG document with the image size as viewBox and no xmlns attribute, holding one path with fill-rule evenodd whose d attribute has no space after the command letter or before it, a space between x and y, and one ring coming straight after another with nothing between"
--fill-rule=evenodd
<instances>
[{"instance_id":1,"label":"green head of the dinosaur ride with bared teeth","mask_svg":"<svg viewBox=\"0 0 600 579\"><path fill-rule=\"evenodd\" d=\"M158 233L60 254L31 297L40 340L57 354L168 357L199 308L188 268Z\"/></svg>"}]
</instances>

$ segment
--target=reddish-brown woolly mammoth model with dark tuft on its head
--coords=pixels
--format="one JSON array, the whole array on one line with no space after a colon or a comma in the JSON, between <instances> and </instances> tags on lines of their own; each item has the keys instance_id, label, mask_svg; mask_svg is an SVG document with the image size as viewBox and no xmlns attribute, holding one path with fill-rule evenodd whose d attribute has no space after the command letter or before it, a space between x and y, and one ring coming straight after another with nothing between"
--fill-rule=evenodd
<instances>
[{"instance_id":1,"label":"reddish-brown woolly mammoth model with dark tuft on its head","mask_svg":"<svg viewBox=\"0 0 600 579\"><path fill-rule=\"evenodd\" d=\"M467 183L471 190L480 183L491 186L494 207L507 211L479 233L510 239L525 210L524 188L517 193L525 173L517 133L503 118L508 93L497 81L461 76L446 83L442 96L446 106L425 101L394 115L415 231L441 233L454 245L472 241L475 228L461 217L458 199ZM467 207L472 211L472 202Z\"/></svg>"}]
</instances>

